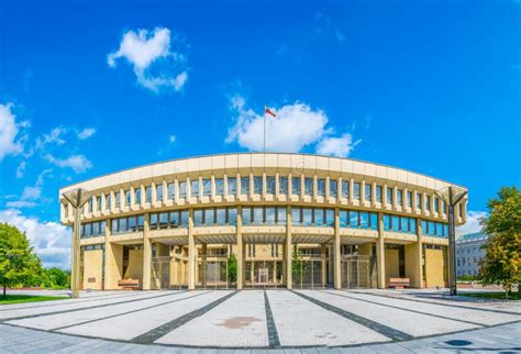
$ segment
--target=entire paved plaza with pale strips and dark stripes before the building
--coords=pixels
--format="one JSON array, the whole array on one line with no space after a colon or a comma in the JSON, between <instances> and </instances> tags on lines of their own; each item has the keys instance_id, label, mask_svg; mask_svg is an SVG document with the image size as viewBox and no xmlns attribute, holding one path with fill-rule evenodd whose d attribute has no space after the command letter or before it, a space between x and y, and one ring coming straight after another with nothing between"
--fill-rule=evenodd
<instances>
[{"instance_id":1,"label":"entire paved plaza with pale strips and dark stripes before the building","mask_svg":"<svg viewBox=\"0 0 521 354\"><path fill-rule=\"evenodd\" d=\"M519 302L444 294L82 292L0 307L0 352L521 351Z\"/></svg>"}]
</instances>

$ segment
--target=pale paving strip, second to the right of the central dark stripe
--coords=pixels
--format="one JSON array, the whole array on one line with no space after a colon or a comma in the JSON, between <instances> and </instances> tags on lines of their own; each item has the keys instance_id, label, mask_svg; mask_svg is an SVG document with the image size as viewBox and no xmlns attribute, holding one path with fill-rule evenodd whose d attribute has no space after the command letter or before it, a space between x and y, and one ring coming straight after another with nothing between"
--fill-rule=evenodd
<instances>
[{"instance_id":1,"label":"pale paving strip, second to the right of the central dark stripe","mask_svg":"<svg viewBox=\"0 0 521 354\"><path fill-rule=\"evenodd\" d=\"M299 290L298 292L413 336L433 335L478 328L478 325L475 324L441 319L435 316L406 312L384 305L362 302L359 300L339 297L322 291Z\"/></svg>"}]
</instances>

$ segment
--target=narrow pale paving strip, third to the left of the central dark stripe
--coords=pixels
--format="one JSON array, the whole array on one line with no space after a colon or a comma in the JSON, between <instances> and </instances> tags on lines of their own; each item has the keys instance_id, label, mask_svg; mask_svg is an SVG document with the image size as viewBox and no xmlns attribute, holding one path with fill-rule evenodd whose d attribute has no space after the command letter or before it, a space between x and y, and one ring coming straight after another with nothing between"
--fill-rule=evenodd
<instances>
[{"instance_id":1,"label":"narrow pale paving strip, third to the left of the central dark stripe","mask_svg":"<svg viewBox=\"0 0 521 354\"><path fill-rule=\"evenodd\" d=\"M114 317L119 314L125 314L133 311L143 310L154 306L160 306L171 301L179 301L189 297L195 296L195 294L182 291L182 292L171 292L169 296L144 298L141 301L134 302L123 302L113 305L107 308L103 308L102 311L97 311L96 309L81 309L73 312L57 313L57 314L45 314L36 318L29 318L23 320L13 320L8 321L9 324L22 325L40 330L55 330L64 329L65 327L73 327L82 324L86 322L91 322L95 320L106 319L109 317Z\"/></svg>"}]
</instances>

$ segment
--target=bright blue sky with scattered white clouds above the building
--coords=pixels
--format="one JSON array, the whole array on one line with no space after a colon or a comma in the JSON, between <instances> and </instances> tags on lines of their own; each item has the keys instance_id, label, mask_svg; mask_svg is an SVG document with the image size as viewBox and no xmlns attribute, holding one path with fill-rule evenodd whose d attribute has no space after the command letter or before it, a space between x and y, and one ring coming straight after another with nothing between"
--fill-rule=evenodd
<instances>
[{"instance_id":1,"label":"bright blue sky with scattered white clouds above the building","mask_svg":"<svg viewBox=\"0 0 521 354\"><path fill-rule=\"evenodd\" d=\"M64 266L58 188L157 161L268 150L469 188L521 180L516 1L0 0L0 220ZM204 139L200 139L204 136Z\"/></svg>"}]
</instances>

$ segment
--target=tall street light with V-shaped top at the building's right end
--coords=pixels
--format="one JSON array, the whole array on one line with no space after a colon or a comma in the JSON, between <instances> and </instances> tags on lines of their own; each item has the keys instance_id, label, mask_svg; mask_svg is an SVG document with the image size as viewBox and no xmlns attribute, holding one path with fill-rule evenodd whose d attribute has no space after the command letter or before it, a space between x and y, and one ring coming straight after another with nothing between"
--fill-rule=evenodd
<instances>
[{"instance_id":1,"label":"tall street light with V-shaped top at the building's right end","mask_svg":"<svg viewBox=\"0 0 521 354\"><path fill-rule=\"evenodd\" d=\"M451 295L457 295L456 286L456 220L454 207L467 195L463 188L448 186L436 191L448 206L448 288Z\"/></svg>"}]
</instances>

